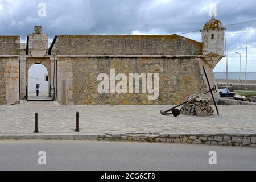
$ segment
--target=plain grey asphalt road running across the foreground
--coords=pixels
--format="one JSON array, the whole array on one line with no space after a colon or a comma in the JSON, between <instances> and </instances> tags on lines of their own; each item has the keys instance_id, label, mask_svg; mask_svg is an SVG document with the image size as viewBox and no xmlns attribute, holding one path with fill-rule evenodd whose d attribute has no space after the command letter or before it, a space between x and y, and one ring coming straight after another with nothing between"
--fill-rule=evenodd
<instances>
[{"instance_id":1,"label":"plain grey asphalt road running across the foreground","mask_svg":"<svg viewBox=\"0 0 256 182\"><path fill-rule=\"evenodd\" d=\"M46 165L38 152L46 152ZM217 165L209 164L216 151ZM161 143L0 141L0 170L256 170L256 148Z\"/></svg>"}]
</instances>

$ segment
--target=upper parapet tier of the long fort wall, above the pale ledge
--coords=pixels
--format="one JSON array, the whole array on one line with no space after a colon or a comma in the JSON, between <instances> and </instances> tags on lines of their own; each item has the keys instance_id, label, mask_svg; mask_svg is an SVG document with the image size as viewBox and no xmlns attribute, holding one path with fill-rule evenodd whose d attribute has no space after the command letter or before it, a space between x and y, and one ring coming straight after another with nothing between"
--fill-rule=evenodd
<instances>
[{"instance_id":1,"label":"upper parapet tier of the long fort wall, above the pale ledge","mask_svg":"<svg viewBox=\"0 0 256 182\"><path fill-rule=\"evenodd\" d=\"M59 55L201 55L202 44L178 35L58 35Z\"/></svg>"}]
</instances>

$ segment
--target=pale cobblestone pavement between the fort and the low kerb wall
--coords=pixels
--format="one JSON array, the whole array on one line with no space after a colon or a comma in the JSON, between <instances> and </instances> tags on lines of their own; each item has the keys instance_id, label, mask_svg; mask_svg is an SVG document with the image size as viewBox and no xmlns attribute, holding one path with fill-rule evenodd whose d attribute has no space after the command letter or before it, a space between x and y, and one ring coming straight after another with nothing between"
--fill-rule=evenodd
<instances>
[{"instance_id":1,"label":"pale cobblestone pavement between the fort and the low kerb wall","mask_svg":"<svg viewBox=\"0 0 256 182\"><path fill-rule=\"evenodd\" d=\"M256 105L220 105L221 115L191 117L160 115L159 105L59 105L57 102L26 102L0 105L0 134L31 134L34 114L39 113L40 133L73 133L75 113L80 112L80 132L85 134L256 133Z\"/></svg>"}]
</instances>

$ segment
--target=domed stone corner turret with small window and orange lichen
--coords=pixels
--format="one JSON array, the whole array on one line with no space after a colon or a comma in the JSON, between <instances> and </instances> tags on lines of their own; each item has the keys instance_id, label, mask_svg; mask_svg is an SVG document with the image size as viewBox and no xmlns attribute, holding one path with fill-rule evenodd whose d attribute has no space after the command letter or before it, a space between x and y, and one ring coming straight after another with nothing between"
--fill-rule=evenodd
<instances>
[{"instance_id":1,"label":"domed stone corner turret with small window and orange lichen","mask_svg":"<svg viewBox=\"0 0 256 182\"><path fill-rule=\"evenodd\" d=\"M224 39L225 30L222 23L212 16L207 23L204 24L202 34L203 50L202 54L205 61L214 68L216 64L225 57L224 55Z\"/></svg>"}]
</instances>

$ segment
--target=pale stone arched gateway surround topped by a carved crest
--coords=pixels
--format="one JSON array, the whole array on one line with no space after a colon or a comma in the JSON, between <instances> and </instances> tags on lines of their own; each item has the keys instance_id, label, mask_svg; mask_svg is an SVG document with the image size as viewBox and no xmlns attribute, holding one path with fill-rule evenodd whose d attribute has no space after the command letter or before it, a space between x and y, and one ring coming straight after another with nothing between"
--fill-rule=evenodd
<instances>
[{"instance_id":1,"label":"pale stone arched gateway surround topped by a carved crest","mask_svg":"<svg viewBox=\"0 0 256 182\"><path fill-rule=\"evenodd\" d=\"M19 98L27 98L28 101L53 101L55 99L56 57L48 54L48 35L43 34L41 26L35 26L35 32L27 36L27 43L21 44L19 50L20 61L20 94ZM48 71L48 96L29 96L28 69L34 64L43 64ZM55 74L56 75L56 74Z\"/></svg>"}]
</instances>

